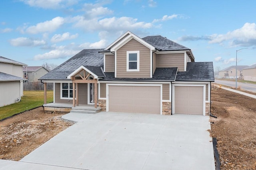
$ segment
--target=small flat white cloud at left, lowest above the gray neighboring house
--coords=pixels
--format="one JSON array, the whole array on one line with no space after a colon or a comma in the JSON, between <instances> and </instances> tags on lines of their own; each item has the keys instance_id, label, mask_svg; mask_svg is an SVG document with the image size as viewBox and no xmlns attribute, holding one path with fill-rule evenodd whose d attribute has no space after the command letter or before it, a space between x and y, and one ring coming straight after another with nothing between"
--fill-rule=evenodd
<instances>
[{"instance_id":1,"label":"small flat white cloud at left, lowest above the gray neighboring house","mask_svg":"<svg viewBox=\"0 0 256 170\"><path fill-rule=\"evenodd\" d=\"M39 46L46 44L46 42L44 40L33 40L26 37L20 37L16 39L11 39L10 44L12 46Z\"/></svg>"}]
</instances>

